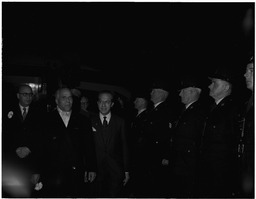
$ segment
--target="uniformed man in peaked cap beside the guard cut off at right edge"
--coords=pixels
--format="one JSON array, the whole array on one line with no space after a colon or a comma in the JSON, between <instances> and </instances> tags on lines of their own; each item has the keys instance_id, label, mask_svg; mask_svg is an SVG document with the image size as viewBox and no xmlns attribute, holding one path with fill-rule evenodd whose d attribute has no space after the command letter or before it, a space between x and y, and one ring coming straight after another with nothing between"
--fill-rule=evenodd
<instances>
[{"instance_id":1,"label":"uniformed man in peaked cap beside the guard cut off at right edge","mask_svg":"<svg viewBox=\"0 0 256 199\"><path fill-rule=\"evenodd\" d=\"M214 99L201 145L203 197L234 197L237 191L238 105L232 98L232 75L224 66L210 76Z\"/></svg>"}]
</instances>

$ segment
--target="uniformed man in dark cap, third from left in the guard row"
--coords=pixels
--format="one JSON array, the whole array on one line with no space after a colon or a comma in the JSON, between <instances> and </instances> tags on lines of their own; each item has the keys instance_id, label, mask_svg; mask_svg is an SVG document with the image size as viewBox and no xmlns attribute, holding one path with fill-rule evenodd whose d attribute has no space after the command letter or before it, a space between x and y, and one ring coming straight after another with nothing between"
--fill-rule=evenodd
<instances>
[{"instance_id":1,"label":"uniformed man in dark cap, third from left in the guard row","mask_svg":"<svg viewBox=\"0 0 256 199\"><path fill-rule=\"evenodd\" d=\"M179 96L184 104L174 125L172 188L174 197L194 197L200 142L206 117L197 78L184 76Z\"/></svg>"}]
</instances>

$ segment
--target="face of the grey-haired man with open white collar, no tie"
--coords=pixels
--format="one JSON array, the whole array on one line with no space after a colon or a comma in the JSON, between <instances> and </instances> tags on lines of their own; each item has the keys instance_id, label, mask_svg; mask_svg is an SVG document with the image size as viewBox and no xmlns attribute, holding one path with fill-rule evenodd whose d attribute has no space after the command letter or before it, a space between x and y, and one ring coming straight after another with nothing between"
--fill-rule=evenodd
<instances>
[{"instance_id":1,"label":"face of the grey-haired man with open white collar, no tie","mask_svg":"<svg viewBox=\"0 0 256 199\"><path fill-rule=\"evenodd\" d=\"M72 93L68 89L62 89L56 98L56 104L62 111L71 111L73 104Z\"/></svg>"}]
</instances>

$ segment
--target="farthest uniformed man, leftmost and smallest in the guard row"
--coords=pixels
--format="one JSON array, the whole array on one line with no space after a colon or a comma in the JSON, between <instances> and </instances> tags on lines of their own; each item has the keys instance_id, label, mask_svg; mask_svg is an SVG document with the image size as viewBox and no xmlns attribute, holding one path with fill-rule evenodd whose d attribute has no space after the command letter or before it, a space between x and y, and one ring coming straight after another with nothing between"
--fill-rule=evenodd
<instances>
[{"instance_id":1,"label":"farthest uniformed man, leftmost and smallest in the guard row","mask_svg":"<svg viewBox=\"0 0 256 199\"><path fill-rule=\"evenodd\" d=\"M151 154L148 153L146 124L149 112L149 93L139 90L135 93L134 108L137 110L129 133L131 146L131 184L134 197L150 197L148 183L150 172L148 165Z\"/></svg>"}]
</instances>

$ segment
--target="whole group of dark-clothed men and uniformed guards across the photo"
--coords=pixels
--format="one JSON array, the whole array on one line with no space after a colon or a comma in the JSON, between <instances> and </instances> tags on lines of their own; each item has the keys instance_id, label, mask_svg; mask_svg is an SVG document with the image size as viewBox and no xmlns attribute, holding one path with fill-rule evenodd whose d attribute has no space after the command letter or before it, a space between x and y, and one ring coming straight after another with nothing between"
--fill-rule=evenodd
<instances>
[{"instance_id":1,"label":"whole group of dark-clothed men and uniformed guards across the photo","mask_svg":"<svg viewBox=\"0 0 256 199\"><path fill-rule=\"evenodd\" d=\"M3 196L254 197L253 59L244 77L252 92L245 104L224 68L209 77L212 101L197 78L184 77L178 112L168 85L155 82L134 94L129 120L112 111L111 91L98 93L91 113L88 98L72 110L72 90L59 88L56 108L44 112L21 85L18 103L3 112Z\"/></svg>"}]
</instances>

